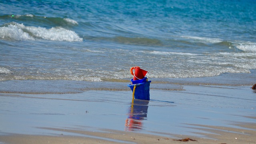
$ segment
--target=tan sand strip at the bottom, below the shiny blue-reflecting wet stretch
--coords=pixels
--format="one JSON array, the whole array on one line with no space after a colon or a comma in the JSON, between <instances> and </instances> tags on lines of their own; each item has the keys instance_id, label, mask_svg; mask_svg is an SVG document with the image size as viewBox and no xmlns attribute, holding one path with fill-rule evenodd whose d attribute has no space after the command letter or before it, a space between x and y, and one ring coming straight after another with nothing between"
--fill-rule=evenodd
<instances>
[{"instance_id":1,"label":"tan sand strip at the bottom, below the shiny blue-reflecting wet stretch","mask_svg":"<svg viewBox=\"0 0 256 144\"><path fill-rule=\"evenodd\" d=\"M208 138L200 138L195 136L157 136L150 134L142 134L136 132L126 132L118 130L102 129L102 132L92 132L86 130L77 130L70 128L42 128L56 130L59 135L24 135L12 134L0 136L1 142L8 144L182 144L184 139L188 139L190 144L255 144L255 124L244 124L247 128L227 128L218 126L202 126L205 130L203 135ZM62 134L70 132L80 134L81 136L70 136ZM212 134L209 134L212 133Z\"/></svg>"}]
</instances>

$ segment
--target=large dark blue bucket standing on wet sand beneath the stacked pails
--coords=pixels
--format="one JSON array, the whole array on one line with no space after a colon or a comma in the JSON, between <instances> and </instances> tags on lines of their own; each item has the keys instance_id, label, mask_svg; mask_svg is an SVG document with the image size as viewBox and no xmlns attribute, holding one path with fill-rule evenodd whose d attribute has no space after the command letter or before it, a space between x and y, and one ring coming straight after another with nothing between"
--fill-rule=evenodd
<instances>
[{"instance_id":1,"label":"large dark blue bucket standing on wet sand beneath the stacked pails","mask_svg":"<svg viewBox=\"0 0 256 144\"><path fill-rule=\"evenodd\" d=\"M134 85L136 85L135 92L134 92L134 98L140 99L140 100L150 100L149 98L149 86L150 82L143 82L140 84L129 84L128 86L131 88L132 92L134 89Z\"/></svg>"}]
</instances>

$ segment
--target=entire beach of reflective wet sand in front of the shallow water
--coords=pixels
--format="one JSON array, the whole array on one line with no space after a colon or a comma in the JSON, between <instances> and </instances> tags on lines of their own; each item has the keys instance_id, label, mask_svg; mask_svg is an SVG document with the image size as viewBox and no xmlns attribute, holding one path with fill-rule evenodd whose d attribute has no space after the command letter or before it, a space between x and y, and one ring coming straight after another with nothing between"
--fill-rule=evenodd
<instances>
[{"instance_id":1,"label":"entire beach of reflective wet sand in front of the shallow water","mask_svg":"<svg viewBox=\"0 0 256 144\"><path fill-rule=\"evenodd\" d=\"M182 86L77 94L0 93L0 143L256 143L256 92L251 86Z\"/></svg>"}]
</instances>

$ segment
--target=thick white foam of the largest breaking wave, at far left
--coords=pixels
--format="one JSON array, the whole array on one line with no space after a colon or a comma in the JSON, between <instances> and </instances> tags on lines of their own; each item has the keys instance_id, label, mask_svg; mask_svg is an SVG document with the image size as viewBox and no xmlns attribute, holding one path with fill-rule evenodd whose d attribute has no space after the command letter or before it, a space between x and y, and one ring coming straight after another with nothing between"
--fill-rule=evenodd
<instances>
[{"instance_id":1,"label":"thick white foam of the largest breaking wave, at far left","mask_svg":"<svg viewBox=\"0 0 256 144\"><path fill-rule=\"evenodd\" d=\"M34 37L68 42L78 42L83 40L76 34L76 32L61 27L46 29L42 27L24 26L24 24L17 24L15 22L0 27L0 38L2 39L35 40Z\"/></svg>"}]
</instances>

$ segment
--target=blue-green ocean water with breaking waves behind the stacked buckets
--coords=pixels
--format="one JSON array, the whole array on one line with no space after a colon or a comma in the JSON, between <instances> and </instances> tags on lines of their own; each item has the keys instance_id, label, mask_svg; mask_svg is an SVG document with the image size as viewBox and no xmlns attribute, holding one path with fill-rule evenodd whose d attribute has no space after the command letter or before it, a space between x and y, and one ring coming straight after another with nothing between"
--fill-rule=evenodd
<instances>
[{"instance_id":1,"label":"blue-green ocean water with breaking waves behind the stacked buckets","mask_svg":"<svg viewBox=\"0 0 256 144\"><path fill-rule=\"evenodd\" d=\"M152 84L256 83L256 2L0 2L2 92L104 87L129 82L133 66Z\"/></svg>"}]
</instances>

